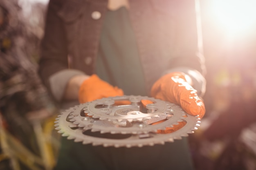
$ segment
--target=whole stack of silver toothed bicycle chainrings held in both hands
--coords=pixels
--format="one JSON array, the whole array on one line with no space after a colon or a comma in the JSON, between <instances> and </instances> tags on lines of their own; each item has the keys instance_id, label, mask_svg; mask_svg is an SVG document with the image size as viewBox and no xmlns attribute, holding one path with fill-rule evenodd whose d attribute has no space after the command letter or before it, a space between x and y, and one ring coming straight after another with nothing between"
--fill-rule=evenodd
<instances>
[{"instance_id":1,"label":"whole stack of silver toothed bicycle chainrings held in both hands","mask_svg":"<svg viewBox=\"0 0 256 170\"><path fill-rule=\"evenodd\" d=\"M144 106L143 100L150 104ZM200 126L198 116L185 113L180 106L141 96L108 97L80 104L61 113L56 120L56 130L67 139L94 146L128 148L173 142ZM157 133L181 121L186 124L179 130Z\"/></svg>"}]
</instances>

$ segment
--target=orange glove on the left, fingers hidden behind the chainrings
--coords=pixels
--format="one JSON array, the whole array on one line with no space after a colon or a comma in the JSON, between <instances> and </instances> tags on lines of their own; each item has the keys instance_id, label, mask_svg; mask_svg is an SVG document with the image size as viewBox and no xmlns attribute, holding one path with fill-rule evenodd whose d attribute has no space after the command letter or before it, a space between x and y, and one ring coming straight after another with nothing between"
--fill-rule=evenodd
<instances>
[{"instance_id":1,"label":"orange glove on the left, fingers hidden behind the chainrings","mask_svg":"<svg viewBox=\"0 0 256 170\"><path fill-rule=\"evenodd\" d=\"M117 86L113 87L101 80L97 75L91 75L79 88L79 102L91 102L103 97L122 96L124 92Z\"/></svg>"}]
</instances>

